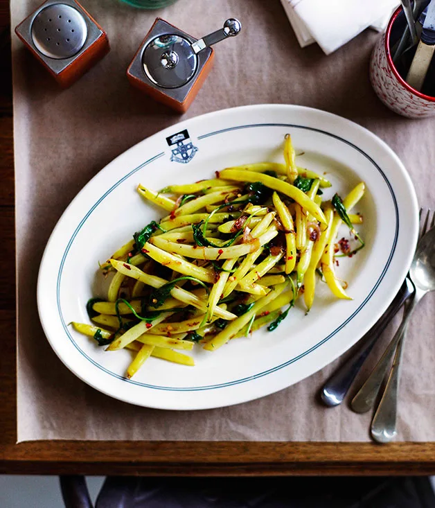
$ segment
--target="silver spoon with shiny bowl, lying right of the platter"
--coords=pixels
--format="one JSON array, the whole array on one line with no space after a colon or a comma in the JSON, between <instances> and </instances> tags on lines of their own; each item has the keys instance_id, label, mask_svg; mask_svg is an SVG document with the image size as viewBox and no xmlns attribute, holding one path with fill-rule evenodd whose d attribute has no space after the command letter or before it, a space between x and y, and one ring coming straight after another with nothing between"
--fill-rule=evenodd
<instances>
[{"instance_id":1,"label":"silver spoon with shiny bowl, lying right of the platter","mask_svg":"<svg viewBox=\"0 0 435 508\"><path fill-rule=\"evenodd\" d=\"M435 221L435 215L434 220ZM405 309L402 323L393 341L396 340L398 349L394 357L393 367L387 380L378 409L371 423L371 435L375 441L388 443L396 436L396 416L398 403L398 387L400 376L400 359L402 358L403 341L407 333L409 318L420 299L429 291L435 290L435 228L432 227L421 239L414 260L409 270L411 281L416 288L414 298ZM396 339L397 336L397 339Z\"/></svg>"}]
</instances>

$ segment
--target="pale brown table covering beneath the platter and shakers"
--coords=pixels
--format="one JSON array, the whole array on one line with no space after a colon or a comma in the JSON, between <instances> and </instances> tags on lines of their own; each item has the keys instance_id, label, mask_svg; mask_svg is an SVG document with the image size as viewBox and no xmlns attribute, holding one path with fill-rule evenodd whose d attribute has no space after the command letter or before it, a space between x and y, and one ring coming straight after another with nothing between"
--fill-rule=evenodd
<instances>
[{"instance_id":1,"label":"pale brown table covering beneath the platter and shakers","mask_svg":"<svg viewBox=\"0 0 435 508\"><path fill-rule=\"evenodd\" d=\"M283 103L317 107L378 134L409 170L420 204L435 204L435 121L393 114L376 98L368 65L378 34L366 30L326 57L301 49L279 0L179 0L137 10L118 0L83 0L112 51L61 90L12 33L17 204L18 439L192 439L367 441L370 415L317 402L338 362L257 401L199 412L139 408L82 383L51 350L39 324L37 268L62 212L98 170L150 134L224 107ZM12 29L39 0L12 0ZM242 33L216 46L215 65L190 110L178 116L130 88L125 70L155 17L197 37L227 17ZM435 440L433 295L416 310L403 358L398 439ZM396 320L397 325L397 320ZM384 336L387 340L393 328ZM378 345L378 351L382 345ZM376 353L367 362L373 365Z\"/></svg>"}]
</instances>

